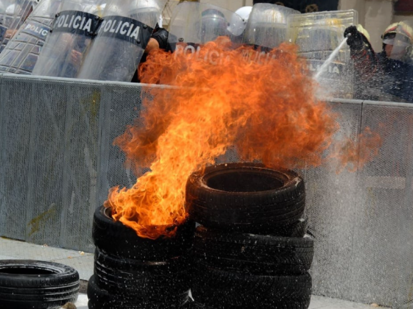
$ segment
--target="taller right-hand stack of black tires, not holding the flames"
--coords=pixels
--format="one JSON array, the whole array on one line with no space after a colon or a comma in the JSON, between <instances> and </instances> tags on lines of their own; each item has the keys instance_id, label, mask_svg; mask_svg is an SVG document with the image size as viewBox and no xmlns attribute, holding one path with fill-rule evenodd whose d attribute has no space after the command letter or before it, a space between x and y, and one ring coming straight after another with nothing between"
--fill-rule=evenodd
<instances>
[{"instance_id":1,"label":"taller right-hand stack of black tires, not holding the flames","mask_svg":"<svg viewBox=\"0 0 413 309\"><path fill-rule=\"evenodd\" d=\"M309 307L313 240L298 174L258 163L210 166L189 176L186 208L199 224L193 308Z\"/></svg>"}]
</instances>

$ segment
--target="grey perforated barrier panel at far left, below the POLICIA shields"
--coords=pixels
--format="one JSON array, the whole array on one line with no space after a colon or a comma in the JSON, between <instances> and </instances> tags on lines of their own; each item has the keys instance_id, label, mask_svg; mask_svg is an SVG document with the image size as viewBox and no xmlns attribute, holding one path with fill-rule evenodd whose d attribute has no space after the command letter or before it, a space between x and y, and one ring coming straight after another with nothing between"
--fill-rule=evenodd
<instances>
[{"instance_id":1,"label":"grey perforated barrier panel at far left, below the POLICIA shields","mask_svg":"<svg viewBox=\"0 0 413 309\"><path fill-rule=\"evenodd\" d=\"M93 250L101 87L2 77L2 235Z\"/></svg>"}]
</instances>

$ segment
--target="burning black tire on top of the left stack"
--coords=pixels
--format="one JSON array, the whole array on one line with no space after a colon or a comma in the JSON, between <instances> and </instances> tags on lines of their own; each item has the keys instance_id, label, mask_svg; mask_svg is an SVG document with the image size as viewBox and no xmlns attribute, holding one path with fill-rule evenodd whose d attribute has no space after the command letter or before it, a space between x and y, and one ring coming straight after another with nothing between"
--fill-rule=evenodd
<instances>
[{"instance_id":1,"label":"burning black tire on top of the left stack","mask_svg":"<svg viewBox=\"0 0 413 309\"><path fill-rule=\"evenodd\" d=\"M152 240L140 238L136 232L109 215L110 208L100 206L93 214L92 239L96 247L118 257L146 261L165 261L184 256L192 246L195 222L178 225L174 237Z\"/></svg>"}]
</instances>

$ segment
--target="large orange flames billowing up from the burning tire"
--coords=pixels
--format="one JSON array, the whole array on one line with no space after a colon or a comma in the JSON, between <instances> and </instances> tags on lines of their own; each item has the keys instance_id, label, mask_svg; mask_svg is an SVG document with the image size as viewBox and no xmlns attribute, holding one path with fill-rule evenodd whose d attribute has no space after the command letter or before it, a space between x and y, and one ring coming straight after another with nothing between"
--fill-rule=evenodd
<instances>
[{"instance_id":1,"label":"large orange flames billowing up from the burning tire","mask_svg":"<svg viewBox=\"0 0 413 309\"><path fill-rule=\"evenodd\" d=\"M155 88L143 102L143 124L115 140L137 170L151 161L150 172L130 189L112 188L105 202L140 237L174 234L171 226L187 216L188 176L229 147L268 166L318 166L339 129L295 46L282 44L259 61L246 57L252 48L232 49L222 38L195 53L180 50L151 52L141 81L172 87Z\"/></svg>"}]
</instances>

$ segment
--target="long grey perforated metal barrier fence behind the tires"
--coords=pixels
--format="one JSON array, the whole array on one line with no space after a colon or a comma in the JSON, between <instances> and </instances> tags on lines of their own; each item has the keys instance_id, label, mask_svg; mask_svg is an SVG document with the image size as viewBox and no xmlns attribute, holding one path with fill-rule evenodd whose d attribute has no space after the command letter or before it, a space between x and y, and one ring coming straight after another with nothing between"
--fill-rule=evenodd
<instances>
[{"instance_id":1,"label":"long grey perforated metal barrier fence behind the tires","mask_svg":"<svg viewBox=\"0 0 413 309\"><path fill-rule=\"evenodd\" d=\"M112 145L162 86L0 76L0 236L93 252L92 214L136 178ZM313 294L413 308L413 105L334 100L336 138L369 126L379 156L358 172L300 171L315 238ZM229 152L221 161L237 161Z\"/></svg>"}]
</instances>

